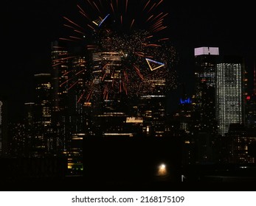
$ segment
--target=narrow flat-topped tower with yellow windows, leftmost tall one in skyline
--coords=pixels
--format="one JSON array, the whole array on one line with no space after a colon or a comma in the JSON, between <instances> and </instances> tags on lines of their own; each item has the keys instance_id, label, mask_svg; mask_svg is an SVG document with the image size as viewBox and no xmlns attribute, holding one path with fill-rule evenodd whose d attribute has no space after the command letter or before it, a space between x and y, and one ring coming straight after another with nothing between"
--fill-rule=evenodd
<instances>
[{"instance_id":1,"label":"narrow flat-topped tower with yellow windows, leftmost tall one in skyline","mask_svg":"<svg viewBox=\"0 0 256 206\"><path fill-rule=\"evenodd\" d=\"M52 85L51 74L35 74L35 136L32 140L32 157L49 154L52 145Z\"/></svg>"}]
</instances>

